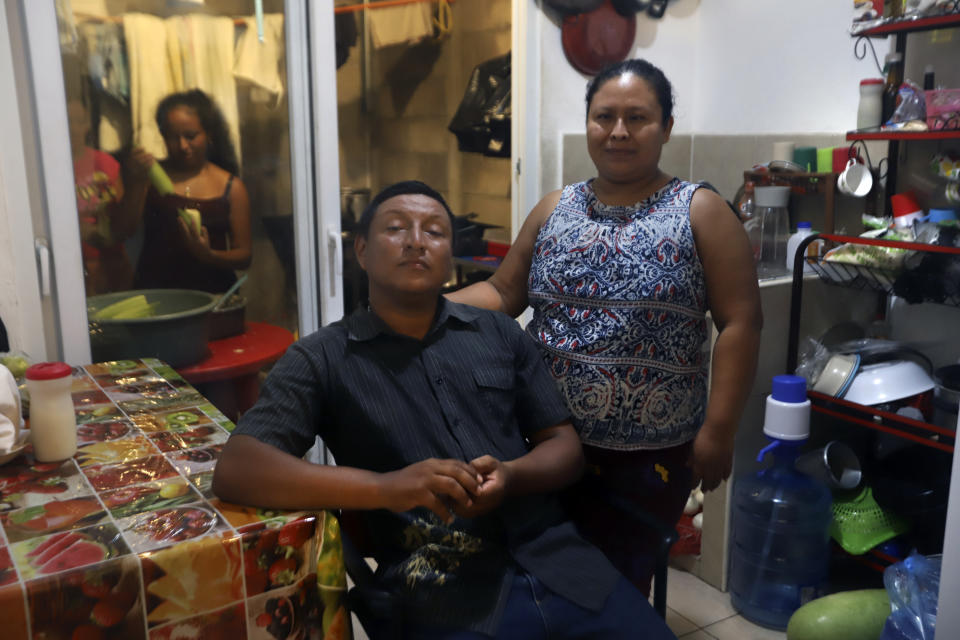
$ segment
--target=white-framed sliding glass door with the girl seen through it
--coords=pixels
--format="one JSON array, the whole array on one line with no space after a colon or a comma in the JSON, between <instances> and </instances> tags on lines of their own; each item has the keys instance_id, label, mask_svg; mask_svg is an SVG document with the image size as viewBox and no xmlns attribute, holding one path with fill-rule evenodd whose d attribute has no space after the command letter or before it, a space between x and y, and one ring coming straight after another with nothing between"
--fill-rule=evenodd
<instances>
[{"instance_id":1,"label":"white-framed sliding glass door with the girl seen through it","mask_svg":"<svg viewBox=\"0 0 960 640\"><path fill-rule=\"evenodd\" d=\"M332 1L133 4L20 3L62 357L90 362L88 308L144 290L338 319Z\"/></svg>"}]
</instances>

